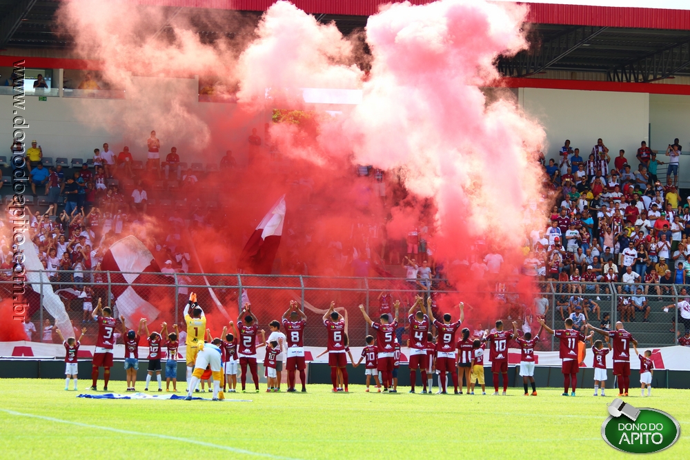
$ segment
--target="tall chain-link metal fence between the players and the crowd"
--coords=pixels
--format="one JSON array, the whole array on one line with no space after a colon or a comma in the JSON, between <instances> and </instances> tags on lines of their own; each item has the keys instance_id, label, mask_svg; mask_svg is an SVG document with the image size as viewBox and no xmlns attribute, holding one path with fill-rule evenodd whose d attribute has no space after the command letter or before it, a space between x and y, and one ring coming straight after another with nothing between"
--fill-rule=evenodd
<instances>
[{"instance_id":1,"label":"tall chain-link metal fence between the players and the crowd","mask_svg":"<svg viewBox=\"0 0 690 460\"><path fill-rule=\"evenodd\" d=\"M582 311L585 321L598 328L613 328L615 321L624 321L625 327L640 346L660 347L676 343L679 333L684 333L682 321L677 321L678 308L664 312L665 306L675 306L679 298L690 297L690 286L673 284L625 284L625 283L558 283L545 281L529 283L496 283L494 289L467 290L444 288L446 283L435 282L424 288L405 279L354 278L354 277L307 277L253 274L182 274L182 273L125 273L125 272L40 272L42 281L32 283L32 291L25 297L30 308L30 320L37 326L41 340L43 322L52 319L43 308L45 295L52 291L60 295L72 325L86 327L86 343L95 340L97 328L88 322L84 312L84 299L78 297L83 288L92 289L93 306L99 297L103 305L115 308L115 314L124 314L131 323L139 317L148 317L151 325L166 321L184 330L183 310L190 292L197 292L199 304L208 317L208 327L217 336L228 320L237 321L242 303L248 299L253 306L259 327L268 333L268 323L281 319L291 300L297 301L308 317L305 331L306 346L325 346L326 330L322 316L331 301L348 317L348 337L353 346L364 344L370 333L362 314L357 308L362 304L372 319L379 312L379 297L390 293L401 301L400 326L397 336L404 346L407 338L407 312L415 296L426 300L445 299L439 302L439 312L451 312L457 318L457 301L468 303L466 324L471 330L490 329L497 319L511 327L517 321L518 329L530 328L534 334L539 328L538 316L551 328L562 328L563 319L571 312ZM500 289L499 289L500 287ZM637 289L640 288L638 293ZM0 279L0 297L12 296L12 281ZM470 300L471 299L471 300ZM540 300L541 299L541 300ZM536 301L535 301L536 300ZM635 305L635 302L638 305ZM149 305L150 304L150 305ZM575 310L580 306L582 310ZM647 309L649 308L649 313ZM453 311L454 310L454 311ZM86 322L83 322L86 318ZM131 326L131 325L128 325ZM152 330L152 328L151 328ZM595 334L594 339L601 338ZM53 338L55 340L55 338ZM515 344L513 344L515 346ZM558 350L549 334L542 334L540 350Z\"/></svg>"}]
</instances>

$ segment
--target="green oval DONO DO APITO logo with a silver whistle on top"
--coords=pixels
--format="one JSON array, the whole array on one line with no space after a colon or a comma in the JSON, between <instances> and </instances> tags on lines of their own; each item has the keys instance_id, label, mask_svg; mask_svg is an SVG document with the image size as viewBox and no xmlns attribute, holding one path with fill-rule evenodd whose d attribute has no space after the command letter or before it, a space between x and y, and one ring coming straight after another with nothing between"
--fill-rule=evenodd
<instances>
[{"instance_id":1,"label":"green oval DONO DO APITO logo with a silver whistle on top","mask_svg":"<svg viewBox=\"0 0 690 460\"><path fill-rule=\"evenodd\" d=\"M609 405L609 414L602 424L602 438L623 452L659 452L673 446L680 437L678 421L660 410L634 408L616 398Z\"/></svg>"}]
</instances>

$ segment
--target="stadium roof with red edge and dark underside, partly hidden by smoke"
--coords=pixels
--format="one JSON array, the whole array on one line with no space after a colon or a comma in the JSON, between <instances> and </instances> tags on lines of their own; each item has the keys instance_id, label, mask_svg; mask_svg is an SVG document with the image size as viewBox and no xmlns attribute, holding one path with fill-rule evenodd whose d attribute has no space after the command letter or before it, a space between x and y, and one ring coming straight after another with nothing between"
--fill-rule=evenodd
<instances>
[{"instance_id":1,"label":"stadium roof with red edge and dark underside, partly hidden by smoke","mask_svg":"<svg viewBox=\"0 0 690 460\"><path fill-rule=\"evenodd\" d=\"M368 15L388 3L383 0L292 1L319 21L335 21L345 34L364 28ZM60 3L61 0L0 0L0 48L70 48L70 37L57 33L55 12ZM213 39L237 32L238 18L257 21L275 0L130 0L130 3L164 7L170 18L182 14L193 19L204 10L217 10L214 16L218 20L213 21L213 26L206 21L198 23L199 34ZM608 81L620 82L690 76L690 10L548 3L529 3L529 8L526 27L532 45L515 57L499 59L499 70L506 77L529 77L546 70L596 72L606 74ZM238 17L237 11L242 15ZM159 32L165 28L167 24ZM0 54L4 53L0 50ZM5 60L0 59L0 63Z\"/></svg>"}]
</instances>

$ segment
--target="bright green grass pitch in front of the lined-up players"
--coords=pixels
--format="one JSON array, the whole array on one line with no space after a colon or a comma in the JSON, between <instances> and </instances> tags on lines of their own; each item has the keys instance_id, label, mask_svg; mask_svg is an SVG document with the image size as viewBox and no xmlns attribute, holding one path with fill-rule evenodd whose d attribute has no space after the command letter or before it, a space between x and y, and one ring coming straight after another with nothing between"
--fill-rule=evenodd
<instances>
[{"instance_id":1,"label":"bright green grass pitch in front of the lined-up players","mask_svg":"<svg viewBox=\"0 0 690 460\"><path fill-rule=\"evenodd\" d=\"M589 385L575 398L555 389L524 397L516 388L507 397L429 396L408 388L377 394L363 386L332 394L325 385L309 386L306 394L227 394L250 403L103 401L63 388L62 380L0 380L4 458L630 458L600 434L615 392L595 398ZM124 388L110 383L113 392ZM690 428L690 390L654 388L644 399L637 388L631 394L633 406L664 410L681 432ZM681 433L675 446L653 457L687 458L689 448Z\"/></svg>"}]
</instances>

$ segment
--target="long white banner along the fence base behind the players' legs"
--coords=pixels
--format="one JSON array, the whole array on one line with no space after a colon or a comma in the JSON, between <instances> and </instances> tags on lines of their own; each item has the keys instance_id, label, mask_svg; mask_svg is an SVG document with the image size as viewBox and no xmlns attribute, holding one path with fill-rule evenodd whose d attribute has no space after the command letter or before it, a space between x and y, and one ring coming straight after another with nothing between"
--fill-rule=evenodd
<instances>
[{"instance_id":1,"label":"long white banner along the fence base behind the players' legs","mask_svg":"<svg viewBox=\"0 0 690 460\"><path fill-rule=\"evenodd\" d=\"M93 346L82 346L79 348L79 359L90 359L94 352ZM352 352L355 361L359 359L359 355L362 354L363 347L352 347L350 350ZM184 347L179 348L180 353L177 355L177 359L184 359L184 352L186 351ZM328 354L324 354L321 357L317 356L324 352L325 348L322 347L304 347L304 354L307 361L315 362L327 362ZM407 357L409 355L408 348L402 349L402 354L400 356L400 361L406 363L408 361ZM630 350L633 353L633 350ZM640 349L640 352L643 350ZM662 348L652 348L651 359L654 361L655 369L669 369L669 370L690 370L690 347L673 346L673 347L662 347ZM125 348L124 345L116 345L113 349L113 357L115 359L124 359ZM561 360L558 357L558 352L535 352L535 363L538 366L559 366L561 365ZM148 347L139 347L139 356L148 356ZM0 357L1 358L21 358L21 357L34 357L42 359L63 359L65 357L65 348L59 343L39 343L39 342L28 342L28 341L15 341L15 342L0 342ZM264 360L264 350L257 350L257 359L259 361ZM589 348L586 348L586 354L584 357L583 367L592 367L593 353ZM510 348L508 350L508 360L510 364L520 363L520 350L517 348ZM489 360L489 353L486 353L484 363L491 363ZM607 367L613 368L613 359L607 359ZM630 367L633 369L640 368L640 360L633 356L630 359Z\"/></svg>"}]
</instances>

